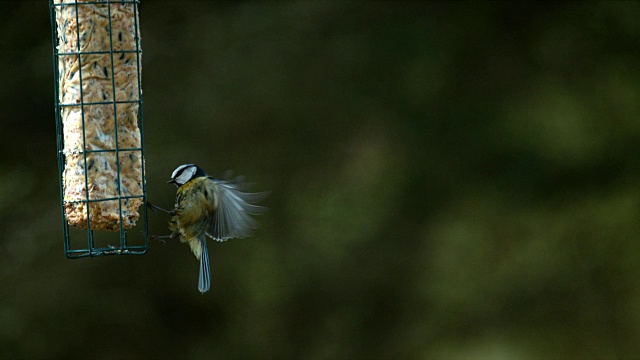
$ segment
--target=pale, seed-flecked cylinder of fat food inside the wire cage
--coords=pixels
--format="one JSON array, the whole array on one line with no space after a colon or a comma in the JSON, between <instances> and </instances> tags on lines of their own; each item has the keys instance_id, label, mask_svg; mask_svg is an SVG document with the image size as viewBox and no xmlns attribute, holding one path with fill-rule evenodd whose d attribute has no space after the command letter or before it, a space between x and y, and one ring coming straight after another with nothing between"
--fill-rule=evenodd
<instances>
[{"instance_id":1,"label":"pale, seed-flecked cylinder of fat food inside the wire cage","mask_svg":"<svg viewBox=\"0 0 640 360\"><path fill-rule=\"evenodd\" d=\"M91 229L118 231L120 212L131 228L143 203L136 4L85 2L54 0L65 217L87 228L88 192Z\"/></svg>"}]
</instances>

